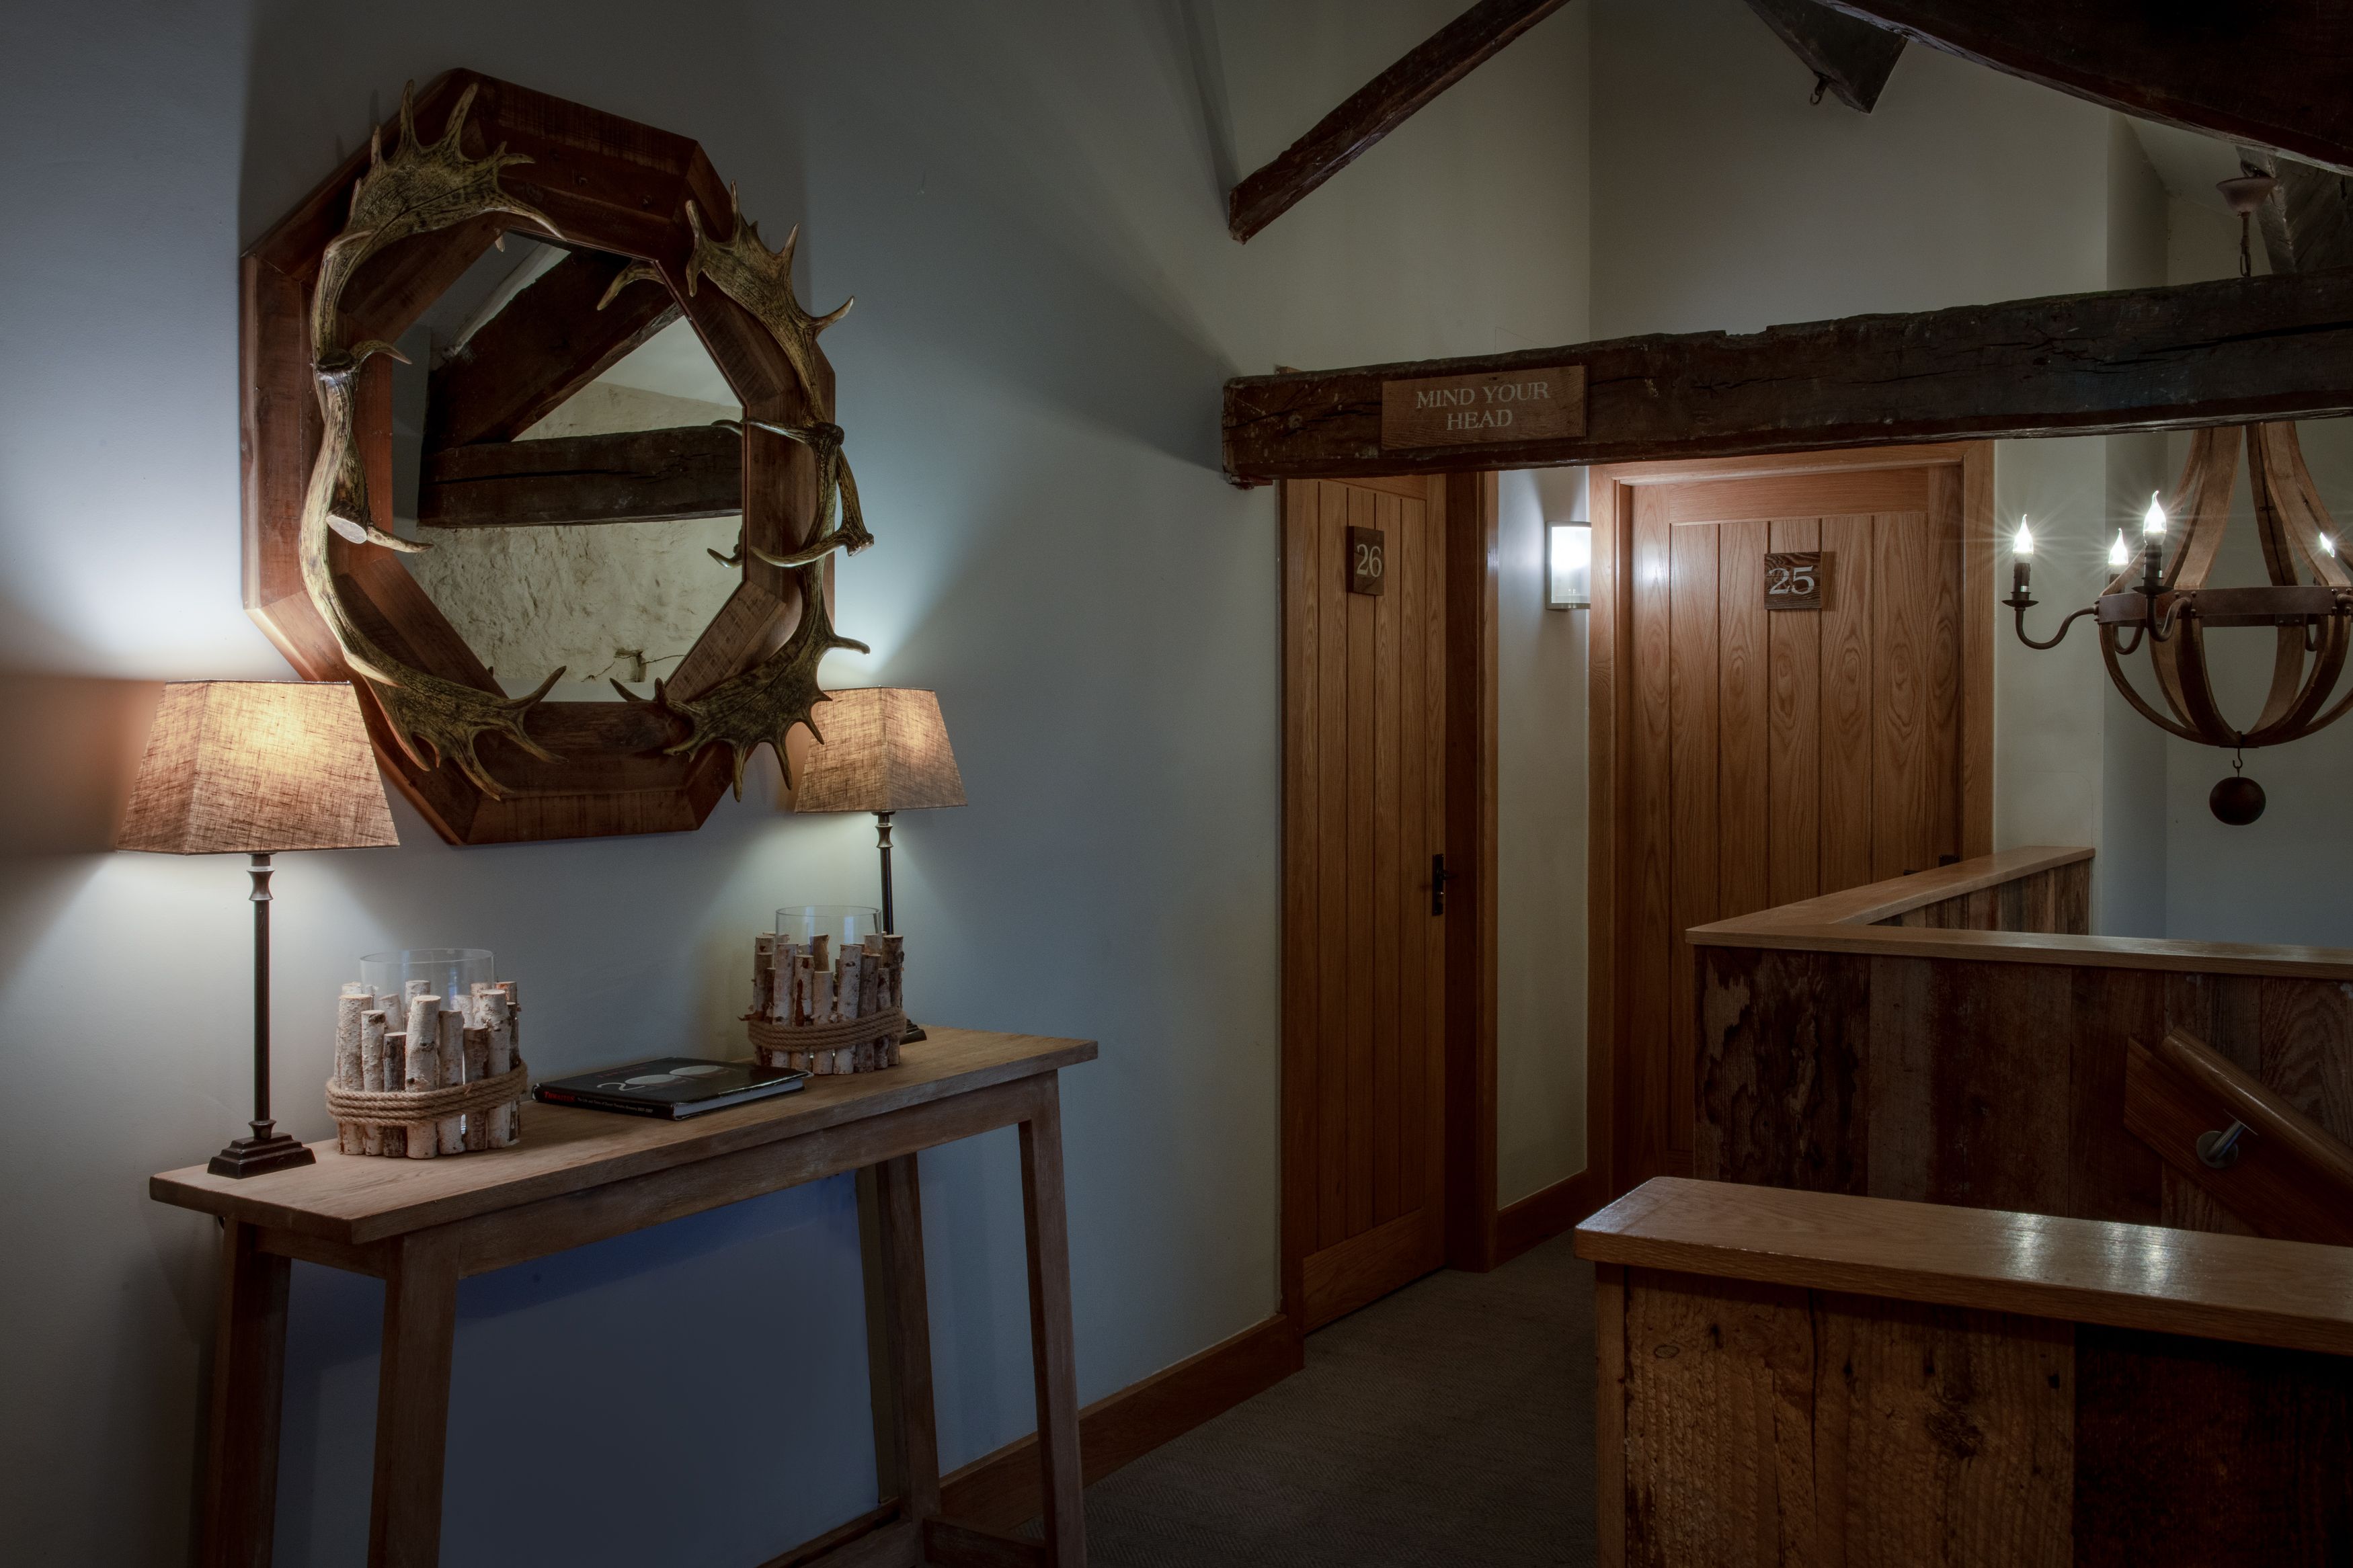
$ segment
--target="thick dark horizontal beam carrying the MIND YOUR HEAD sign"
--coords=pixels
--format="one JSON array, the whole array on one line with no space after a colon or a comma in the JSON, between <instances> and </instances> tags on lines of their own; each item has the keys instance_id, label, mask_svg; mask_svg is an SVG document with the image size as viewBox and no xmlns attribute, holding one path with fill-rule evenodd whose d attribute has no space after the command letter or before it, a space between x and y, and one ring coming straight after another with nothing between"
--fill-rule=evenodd
<instances>
[{"instance_id":1,"label":"thick dark horizontal beam carrying the MIND YOUR HEAD sign","mask_svg":"<svg viewBox=\"0 0 2353 1568\"><path fill-rule=\"evenodd\" d=\"M1381 444L1384 383L1527 386L1553 367L1584 371L1581 433ZM2337 414L2353 414L2353 270L1240 376L1226 383L1226 473L1544 468Z\"/></svg>"}]
</instances>

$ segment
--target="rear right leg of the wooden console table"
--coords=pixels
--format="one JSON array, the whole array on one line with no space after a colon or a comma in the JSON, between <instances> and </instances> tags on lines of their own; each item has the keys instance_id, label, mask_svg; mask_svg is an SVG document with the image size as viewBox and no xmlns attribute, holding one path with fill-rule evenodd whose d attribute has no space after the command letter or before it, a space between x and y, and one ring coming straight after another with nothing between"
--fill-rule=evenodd
<instances>
[{"instance_id":1,"label":"rear right leg of the wooden console table","mask_svg":"<svg viewBox=\"0 0 2353 1568\"><path fill-rule=\"evenodd\" d=\"M915 1157L859 1171L866 1232L866 1331L875 1387L875 1479L906 1519L939 1514L932 1403L932 1314L922 1276L922 1190Z\"/></svg>"}]
</instances>

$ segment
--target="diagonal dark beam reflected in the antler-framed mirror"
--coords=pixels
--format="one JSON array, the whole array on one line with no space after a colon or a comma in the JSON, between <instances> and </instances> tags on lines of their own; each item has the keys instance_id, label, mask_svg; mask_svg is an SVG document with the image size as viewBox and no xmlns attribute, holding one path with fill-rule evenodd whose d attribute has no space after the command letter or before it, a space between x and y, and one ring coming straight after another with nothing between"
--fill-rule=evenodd
<instances>
[{"instance_id":1,"label":"diagonal dark beam reflected in the antler-framed mirror","mask_svg":"<svg viewBox=\"0 0 2353 1568\"><path fill-rule=\"evenodd\" d=\"M572 252L515 294L433 371L426 447L511 442L675 322L678 301L654 282L598 310L626 266L626 256Z\"/></svg>"}]
</instances>

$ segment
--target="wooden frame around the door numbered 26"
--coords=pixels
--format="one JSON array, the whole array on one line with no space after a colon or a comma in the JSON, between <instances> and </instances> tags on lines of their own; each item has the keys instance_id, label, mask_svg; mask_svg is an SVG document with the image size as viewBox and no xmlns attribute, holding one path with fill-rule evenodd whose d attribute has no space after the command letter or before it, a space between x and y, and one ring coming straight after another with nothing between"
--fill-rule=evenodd
<instances>
[{"instance_id":1,"label":"wooden frame around the door numbered 26","mask_svg":"<svg viewBox=\"0 0 2353 1568\"><path fill-rule=\"evenodd\" d=\"M1311 482L1289 480L1285 484ZM1454 879L1447 886L1445 931L1445 1194L1447 1262L1487 1269L1499 1262L1494 1206L1494 860L1497 860L1497 475L1400 475L1358 477L1344 484L1391 489L1424 501L1445 555L1445 856ZM1289 503L1282 491L1278 505ZM1313 1251L1315 1161L1306 1147L1308 1095L1297 1041L1313 1016L1306 980L1313 966L1297 954L1313 922L1313 896L1304 867L1304 844L1294 830L1292 757L1299 741L1292 649L1301 604L1289 562L1289 524L1282 520L1282 1117L1280 1117L1280 1288L1282 1316L1304 1321L1304 1262Z\"/></svg>"}]
</instances>

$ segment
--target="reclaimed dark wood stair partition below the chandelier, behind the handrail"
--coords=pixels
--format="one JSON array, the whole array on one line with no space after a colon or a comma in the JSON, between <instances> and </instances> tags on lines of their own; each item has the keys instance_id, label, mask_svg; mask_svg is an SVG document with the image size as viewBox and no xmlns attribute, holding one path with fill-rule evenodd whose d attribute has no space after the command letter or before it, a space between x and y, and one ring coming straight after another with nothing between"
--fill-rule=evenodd
<instances>
[{"instance_id":1,"label":"reclaimed dark wood stair partition below the chandelier, behind the handrail","mask_svg":"<svg viewBox=\"0 0 2353 1568\"><path fill-rule=\"evenodd\" d=\"M2014 849L1697 926L1692 1173L2245 1229L2125 1126L2132 1044L2174 1030L2353 1143L2353 952L2089 936L2089 858Z\"/></svg>"}]
</instances>

